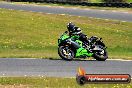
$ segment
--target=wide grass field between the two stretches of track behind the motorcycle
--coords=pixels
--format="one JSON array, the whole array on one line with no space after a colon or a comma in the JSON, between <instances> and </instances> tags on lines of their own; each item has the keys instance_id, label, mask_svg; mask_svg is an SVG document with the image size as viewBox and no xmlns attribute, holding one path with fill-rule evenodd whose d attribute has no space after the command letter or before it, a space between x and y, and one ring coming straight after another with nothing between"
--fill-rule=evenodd
<instances>
[{"instance_id":1,"label":"wide grass field between the two stretches of track behind the motorcycle","mask_svg":"<svg viewBox=\"0 0 132 88\"><path fill-rule=\"evenodd\" d=\"M102 37L110 58L132 59L132 23L0 9L0 57L60 58L57 39L68 22Z\"/></svg>"}]
</instances>

